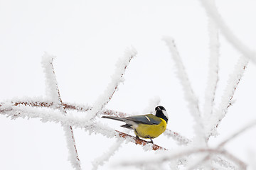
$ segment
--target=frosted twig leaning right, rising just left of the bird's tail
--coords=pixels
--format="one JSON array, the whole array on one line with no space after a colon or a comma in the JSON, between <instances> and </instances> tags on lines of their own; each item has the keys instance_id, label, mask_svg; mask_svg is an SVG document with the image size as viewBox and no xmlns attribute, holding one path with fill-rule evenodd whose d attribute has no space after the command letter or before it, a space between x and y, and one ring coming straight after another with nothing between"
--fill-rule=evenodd
<instances>
[{"instance_id":1,"label":"frosted twig leaning right, rising just left of the bird's tail","mask_svg":"<svg viewBox=\"0 0 256 170\"><path fill-rule=\"evenodd\" d=\"M117 91L119 84L124 81L124 72L127 69L128 64L136 55L137 51L134 47L131 47L130 49L127 48L124 52L124 57L119 58L114 74L112 75L112 81L107 85L104 93L100 95L93 104L92 110L87 114L88 120L95 118L95 116L105 108L107 103L110 102L114 92Z\"/></svg>"}]
</instances>

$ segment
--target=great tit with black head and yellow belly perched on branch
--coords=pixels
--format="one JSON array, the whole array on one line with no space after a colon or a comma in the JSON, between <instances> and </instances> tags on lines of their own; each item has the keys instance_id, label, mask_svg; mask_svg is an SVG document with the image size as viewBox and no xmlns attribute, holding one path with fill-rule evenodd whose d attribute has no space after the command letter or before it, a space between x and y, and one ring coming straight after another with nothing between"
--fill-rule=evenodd
<instances>
[{"instance_id":1,"label":"great tit with black head and yellow belly perched on branch","mask_svg":"<svg viewBox=\"0 0 256 170\"><path fill-rule=\"evenodd\" d=\"M153 114L134 115L126 118L102 116L102 118L119 120L126 123L121 127L133 129L137 138L150 139L151 143L153 143L152 139L158 137L166 130L168 123L168 114L163 106L157 106Z\"/></svg>"}]
</instances>

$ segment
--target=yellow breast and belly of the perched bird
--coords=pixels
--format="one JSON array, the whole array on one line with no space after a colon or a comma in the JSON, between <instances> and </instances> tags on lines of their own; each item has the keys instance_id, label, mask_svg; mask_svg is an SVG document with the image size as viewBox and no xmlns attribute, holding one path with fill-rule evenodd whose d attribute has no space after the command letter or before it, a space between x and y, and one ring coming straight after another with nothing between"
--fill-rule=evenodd
<instances>
[{"instance_id":1,"label":"yellow breast and belly of the perched bird","mask_svg":"<svg viewBox=\"0 0 256 170\"><path fill-rule=\"evenodd\" d=\"M149 138L152 139L158 137L166 130L166 121L162 118L161 123L158 125L146 125L146 124L139 124L137 128L134 129L136 135L142 138Z\"/></svg>"}]
</instances>

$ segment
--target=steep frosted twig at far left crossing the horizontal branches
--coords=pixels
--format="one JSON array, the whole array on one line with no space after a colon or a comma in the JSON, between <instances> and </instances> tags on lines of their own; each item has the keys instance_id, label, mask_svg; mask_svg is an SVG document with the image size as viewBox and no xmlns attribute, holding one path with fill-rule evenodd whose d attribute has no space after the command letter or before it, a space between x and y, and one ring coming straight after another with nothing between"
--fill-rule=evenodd
<instances>
[{"instance_id":1,"label":"steep frosted twig at far left crossing the horizontal branches","mask_svg":"<svg viewBox=\"0 0 256 170\"><path fill-rule=\"evenodd\" d=\"M46 74L46 95L53 101L53 106L57 106L63 115L67 115L65 111L65 106L63 106L63 101L60 97L60 90L58 88L57 79L53 67L53 56L45 53L42 57L42 65L44 72ZM67 141L69 160L75 169L80 170L80 159L78 157L78 150L75 145L75 137L73 133L73 128L70 125L63 125L63 130L65 132L65 137Z\"/></svg>"}]
</instances>

